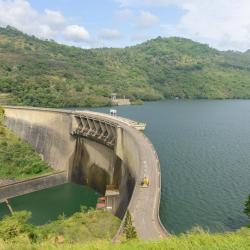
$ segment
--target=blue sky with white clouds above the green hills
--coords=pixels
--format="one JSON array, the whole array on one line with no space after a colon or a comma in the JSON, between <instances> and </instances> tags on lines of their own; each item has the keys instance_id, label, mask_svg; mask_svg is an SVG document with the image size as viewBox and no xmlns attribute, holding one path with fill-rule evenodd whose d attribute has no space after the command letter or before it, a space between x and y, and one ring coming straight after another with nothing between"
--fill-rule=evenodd
<instances>
[{"instance_id":1,"label":"blue sky with white clouds above the green hills","mask_svg":"<svg viewBox=\"0 0 250 250\"><path fill-rule=\"evenodd\" d=\"M0 26L82 48L179 36L250 49L250 0L0 0Z\"/></svg>"}]
</instances>

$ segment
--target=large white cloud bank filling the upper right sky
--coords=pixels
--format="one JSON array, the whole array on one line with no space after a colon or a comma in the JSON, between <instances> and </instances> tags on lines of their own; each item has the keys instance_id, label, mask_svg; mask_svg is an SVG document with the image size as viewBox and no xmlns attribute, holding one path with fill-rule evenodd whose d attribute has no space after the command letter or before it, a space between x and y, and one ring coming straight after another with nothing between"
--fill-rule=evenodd
<instances>
[{"instance_id":1,"label":"large white cloud bank filling the upper right sky","mask_svg":"<svg viewBox=\"0 0 250 250\"><path fill-rule=\"evenodd\" d=\"M250 48L249 0L116 0L122 7L176 5L184 10L175 25L165 24L165 35L185 36L219 49Z\"/></svg>"}]
</instances>

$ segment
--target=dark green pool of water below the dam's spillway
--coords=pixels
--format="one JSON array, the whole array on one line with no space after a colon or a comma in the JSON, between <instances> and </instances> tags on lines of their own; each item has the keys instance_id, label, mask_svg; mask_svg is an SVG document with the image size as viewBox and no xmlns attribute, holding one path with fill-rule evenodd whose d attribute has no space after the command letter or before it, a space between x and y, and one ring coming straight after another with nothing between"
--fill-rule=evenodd
<instances>
[{"instance_id":1,"label":"dark green pool of water below the dam's spillway","mask_svg":"<svg viewBox=\"0 0 250 250\"><path fill-rule=\"evenodd\" d=\"M95 208L99 196L89 187L66 183L9 199L9 203L14 211L31 211L30 222L41 225L62 214L71 216L80 210L81 205ZM6 213L6 208L0 204L0 211L2 210Z\"/></svg>"}]
</instances>

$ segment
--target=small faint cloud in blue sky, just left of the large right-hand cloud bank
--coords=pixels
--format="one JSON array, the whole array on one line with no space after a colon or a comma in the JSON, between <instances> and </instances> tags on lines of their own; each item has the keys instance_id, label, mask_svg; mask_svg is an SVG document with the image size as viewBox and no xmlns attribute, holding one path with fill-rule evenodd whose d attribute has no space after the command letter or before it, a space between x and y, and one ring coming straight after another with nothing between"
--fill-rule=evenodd
<instances>
[{"instance_id":1,"label":"small faint cloud in blue sky, just left of the large right-hand cloud bank","mask_svg":"<svg viewBox=\"0 0 250 250\"><path fill-rule=\"evenodd\" d=\"M136 25L139 28L146 29L151 28L160 23L160 19L158 16L153 15L149 11L140 11L140 15L136 20Z\"/></svg>"}]
</instances>

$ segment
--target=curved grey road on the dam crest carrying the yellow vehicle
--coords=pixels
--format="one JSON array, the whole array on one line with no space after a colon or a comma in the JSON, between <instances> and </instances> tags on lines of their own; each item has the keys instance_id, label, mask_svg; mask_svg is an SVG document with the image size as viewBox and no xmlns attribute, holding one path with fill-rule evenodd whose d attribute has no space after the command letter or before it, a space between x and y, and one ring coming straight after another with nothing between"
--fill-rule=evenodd
<instances>
[{"instance_id":1,"label":"curved grey road on the dam crest carrying the yellow vehicle","mask_svg":"<svg viewBox=\"0 0 250 250\"><path fill-rule=\"evenodd\" d=\"M140 145L140 176L135 186L130 203L137 233L142 239L157 239L168 235L159 218L161 199L161 173L157 154L153 145L142 133L129 128L130 133ZM140 182L144 176L149 177L149 187L143 188Z\"/></svg>"}]
</instances>

